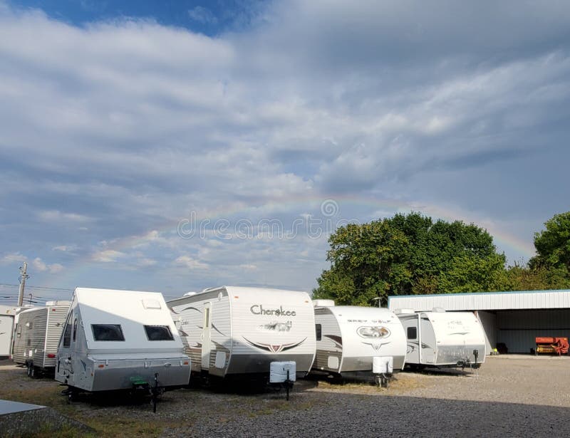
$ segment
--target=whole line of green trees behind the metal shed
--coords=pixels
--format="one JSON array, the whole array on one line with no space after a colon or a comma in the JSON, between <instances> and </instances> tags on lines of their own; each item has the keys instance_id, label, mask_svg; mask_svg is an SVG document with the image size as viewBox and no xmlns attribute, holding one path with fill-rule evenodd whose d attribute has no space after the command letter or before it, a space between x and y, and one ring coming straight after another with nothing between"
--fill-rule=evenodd
<instances>
[{"instance_id":1,"label":"whole line of green trees behind the metal shed","mask_svg":"<svg viewBox=\"0 0 570 438\"><path fill-rule=\"evenodd\" d=\"M537 254L507 266L492 236L475 224L418 212L347 224L328 239L331 268L313 296L373 306L395 295L570 288L570 212L544 226L534 234Z\"/></svg>"}]
</instances>

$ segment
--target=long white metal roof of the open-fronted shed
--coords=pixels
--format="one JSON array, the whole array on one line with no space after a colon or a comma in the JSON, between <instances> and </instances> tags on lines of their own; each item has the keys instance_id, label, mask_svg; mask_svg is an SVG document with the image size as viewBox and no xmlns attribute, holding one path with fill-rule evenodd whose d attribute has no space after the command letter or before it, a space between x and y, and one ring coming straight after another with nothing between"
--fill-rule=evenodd
<instances>
[{"instance_id":1,"label":"long white metal roof of the open-fronted shed","mask_svg":"<svg viewBox=\"0 0 570 438\"><path fill-rule=\"evenodd\" d=\"M440 293L388 297L388 308L431 311L484 311L507 309L570 308L570 290Z\"/></svg>"}]
</instances>

